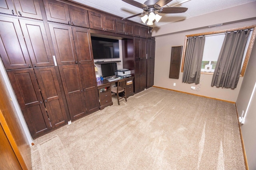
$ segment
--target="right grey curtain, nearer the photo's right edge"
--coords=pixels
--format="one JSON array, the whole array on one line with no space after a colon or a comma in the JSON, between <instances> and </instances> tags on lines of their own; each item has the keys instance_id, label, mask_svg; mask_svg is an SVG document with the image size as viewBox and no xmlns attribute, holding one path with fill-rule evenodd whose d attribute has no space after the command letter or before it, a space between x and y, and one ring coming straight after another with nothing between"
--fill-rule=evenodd
<instances>
[{"instance_id":1,"label":"right grey curtain, nearer the photo's right edge","mask_svg":"<svg viewBox=\"0 0 256 170\"><path fill-rule=\"evenodd\" d=\"M250 30L226 33L220 55L214 70L212 86L236 88Z\"/></svg>"}]
</instances>

